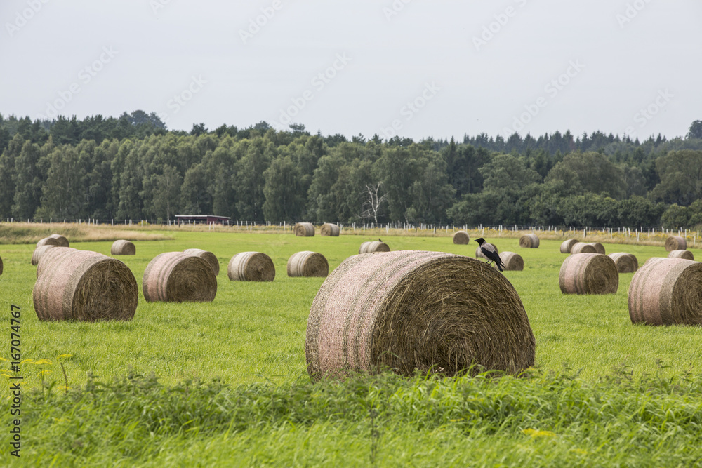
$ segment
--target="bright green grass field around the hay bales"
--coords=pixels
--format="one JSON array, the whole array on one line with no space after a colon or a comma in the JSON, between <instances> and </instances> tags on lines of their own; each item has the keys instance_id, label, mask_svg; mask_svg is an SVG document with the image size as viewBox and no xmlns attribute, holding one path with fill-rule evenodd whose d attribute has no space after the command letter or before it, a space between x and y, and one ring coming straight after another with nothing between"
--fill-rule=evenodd
<instances>
[{"instance_id":1,"label":"bright green grass field around the hay bales","mask_svg":"<svg viewBox=\"0 0 702 468\"><path fill-rule=\"evenodd\" d=\"M566 255L559 241L523 249L519 239L487 239L524 258L523 272L505 276L536 336L536 368L526 377L381 375L312 384L305 328L324 279L288 278L286 261L314 250L331 271L375 237L159 234L173 240L137 241L137 255L118 257L139 286L159 253L202 248L220 261L213 302L147 303L140 292L130 322L40 322L32 307L34 246L0 246L3 356L9 357L14 304L22 308L22 359L31 360L21 371L22 458L10 457L3 440L2 463L694 466L701 460L702 329L633 326L627 307L633 274L620 275L615 295L562 295L558 274ZM450 237L383 240L392 250L475 256L474 242L456 246ZM71 246L110 255L110 245ZM663 247L604 245L607 253L633 253L640 265L666 255ZM230 258L249 250L270 255L275 281L227 279ZM0 363L12 375L8 361ZM8 385L0 396L9 401Z\"/></svg>"}]
</instances>

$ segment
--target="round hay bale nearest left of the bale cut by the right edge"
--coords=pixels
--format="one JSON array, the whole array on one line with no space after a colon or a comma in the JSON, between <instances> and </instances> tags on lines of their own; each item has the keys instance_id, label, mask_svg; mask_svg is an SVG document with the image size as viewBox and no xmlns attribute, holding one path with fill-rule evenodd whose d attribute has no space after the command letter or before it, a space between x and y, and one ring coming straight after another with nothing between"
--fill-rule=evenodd
<instances>
[{"instance_id":1,"label":"round hay bale nearest left of the bale cut by the right edge","mask_svg":"<svg viewBox=\"0 0 702 468\"><path fill-rule=\"evenodd\" d=\"M614 294L619 287L619 272L607 255L578 253L563 261L558 283L564 294Z\"/></svg>"}]
</instances>

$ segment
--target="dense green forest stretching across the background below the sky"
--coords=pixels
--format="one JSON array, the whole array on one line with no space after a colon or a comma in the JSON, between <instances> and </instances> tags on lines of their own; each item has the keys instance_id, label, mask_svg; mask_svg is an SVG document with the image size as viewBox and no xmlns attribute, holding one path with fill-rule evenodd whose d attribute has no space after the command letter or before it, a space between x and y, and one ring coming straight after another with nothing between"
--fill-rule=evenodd
<instances>
[{"instance_id":1,"label":"dense green forest stretching across the background below the sky","mask_svg":"<svg viewBox=\"0 0 702 468\"><path fill-rule=\"evenodd\" d=\"M640 142L595 132L462 142L314 135L154 113L0 115L0 218L571 227L702 225L702 121Z\"/></svg>"}]
</instances>

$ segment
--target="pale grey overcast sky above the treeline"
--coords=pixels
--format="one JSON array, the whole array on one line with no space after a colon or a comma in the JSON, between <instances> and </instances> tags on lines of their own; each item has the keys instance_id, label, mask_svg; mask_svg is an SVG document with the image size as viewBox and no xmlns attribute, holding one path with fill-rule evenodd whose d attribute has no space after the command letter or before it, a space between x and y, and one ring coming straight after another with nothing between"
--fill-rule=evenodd
<instances>
[{"instance_id":1,"label":"pale grey overcast sky above the treeline","mask_svg":"<svg viewBox=\"0 0 702 468\"><path fill-rule=\"evenodd\" d=\"M0 113L462 139L702 119L699 0L2 0Z\"/></svg>"}]
</instances>

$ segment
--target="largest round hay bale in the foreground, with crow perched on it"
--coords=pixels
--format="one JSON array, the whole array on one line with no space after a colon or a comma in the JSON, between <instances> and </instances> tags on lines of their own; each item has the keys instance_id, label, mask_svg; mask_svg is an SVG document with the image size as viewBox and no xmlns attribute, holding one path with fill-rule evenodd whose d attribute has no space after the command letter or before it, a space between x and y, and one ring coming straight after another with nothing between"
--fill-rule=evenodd
<instances>
[{"instance_id":1,"label":"largest round hay bale in the foreground, with crow perched on it","mask_svg":"<svg viewBox=\"0 0 702 468\"><path fill-rule=\"evenodd\" d=\"M305 340L313 380L385 368L457 375L473 365L519 373L534 365L535 347L502 274L462 255L416 250L344 260L314 297Z\"/></svg>"}]
</instances>

